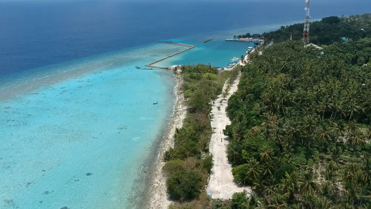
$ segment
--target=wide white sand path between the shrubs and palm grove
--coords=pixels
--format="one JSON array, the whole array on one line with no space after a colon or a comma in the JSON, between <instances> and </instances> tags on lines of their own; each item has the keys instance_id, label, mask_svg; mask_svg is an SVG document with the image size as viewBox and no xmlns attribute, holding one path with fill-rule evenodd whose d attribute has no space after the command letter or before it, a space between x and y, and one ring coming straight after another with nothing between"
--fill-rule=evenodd
<instances>
[{"instance_id":1,"label":"wide white sand path between the shrubs and palm grove","mask_svg":"<svg viewBox=\"0 0 371 209\"><path fill-rule=\"evenodd\" d=\"M214 118L211 120L211 127L215 129L214 133L211 135L209 149L210 153L214 155L214 167L211 169L208 187L211 190L211 197L213 199L230 199L233 193L242 192L243 190L249 193L251 192L249 188L237 184L233 179L232 165L228 162L226 152L229 141L227 140L228 137L223 134L223 129L226 125L230 125L230 120L226 113L227 101L230 95L237 90L239 81L240 76L232 84L229 92L230 94L226 97L226 100L223 101L222 105L220 105L219 100L223 98L219 96L211 110L211 114L214 114ZM224 84L223 90L226 89L226 87L227 83ZM221 106L220 110L217 109L219 105ZM221 138L223 138L223 142Z\"/></svg>"}]
</instances>

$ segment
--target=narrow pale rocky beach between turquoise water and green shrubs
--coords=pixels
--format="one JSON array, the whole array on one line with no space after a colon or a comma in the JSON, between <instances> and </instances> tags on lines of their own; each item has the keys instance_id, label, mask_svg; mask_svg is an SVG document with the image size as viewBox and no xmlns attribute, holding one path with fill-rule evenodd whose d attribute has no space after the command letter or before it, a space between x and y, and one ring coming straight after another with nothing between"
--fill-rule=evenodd
<instances>
[{"instance_id":1,"label":"narrow pale rocky beach between turquoise water and green shrubs","mask_svg":"<svg viewBox=\"0 0 371 209\"><path fill-rule=\"evenodd\" d=\"M183 80L180 73L176 73L177 84L175 86L175 99L176 103L174 106L174 115L170 120L164 136L160 145L160 150L158 152L158 159L150 177L149 185L149 204L148 209L166 209L168 205L171 204L171 201L167 199L166 194L166 177L162 172L162 167L165 165L165 162L161 160L162 155L166 150L171 147L174 147L174 134L176 128L181 128L183 125L183 120L187 115L187 107L185 106L185 100L183 92L181 91L181 86Z\"/></svg>"}]
</instances>

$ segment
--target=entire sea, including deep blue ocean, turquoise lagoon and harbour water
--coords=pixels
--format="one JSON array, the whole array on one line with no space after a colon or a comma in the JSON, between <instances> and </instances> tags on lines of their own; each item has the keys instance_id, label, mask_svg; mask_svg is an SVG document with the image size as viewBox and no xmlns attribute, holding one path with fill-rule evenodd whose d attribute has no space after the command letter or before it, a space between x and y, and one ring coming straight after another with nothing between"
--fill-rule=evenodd
<instances>
[{"instance_id":1,"label":"entire sea, including deep blue ocean, turquoise lagoon and harbour water","mask_svg":"<svg viewBox=\"0 0 371 209\"><path fill-rule=\"evenodd\" d=\"M152 61L226 67L242 33L302 22L304 0L0 0L0 208L142 208L174 110ZM371 1L311 0L312 20ZM206 44L210 38L216 38ZM288 37L289 38L289 37ZM159 102L153 105L153 102ZM148 206L148 205L147 205Z\"/></svg>"}]
</instances>

